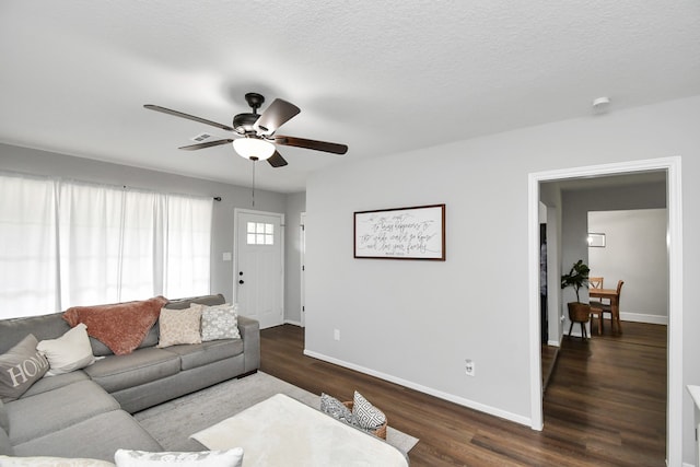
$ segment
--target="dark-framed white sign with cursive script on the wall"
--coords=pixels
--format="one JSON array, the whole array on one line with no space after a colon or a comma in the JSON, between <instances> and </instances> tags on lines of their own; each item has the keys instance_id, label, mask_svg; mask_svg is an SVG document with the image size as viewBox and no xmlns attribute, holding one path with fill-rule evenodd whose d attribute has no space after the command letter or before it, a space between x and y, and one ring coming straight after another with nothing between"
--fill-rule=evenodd
<instances>
[{"instance_id":1,"label":"dark-framed white sign with cursive script on the wall","mask_svg":"<svg viewBox=\"0 0 700 467\"><path fill-rule=\"evenodd\" d=\"M354 257L445 260L445 205L354 212Z\"/></svg>"}]
</instances>

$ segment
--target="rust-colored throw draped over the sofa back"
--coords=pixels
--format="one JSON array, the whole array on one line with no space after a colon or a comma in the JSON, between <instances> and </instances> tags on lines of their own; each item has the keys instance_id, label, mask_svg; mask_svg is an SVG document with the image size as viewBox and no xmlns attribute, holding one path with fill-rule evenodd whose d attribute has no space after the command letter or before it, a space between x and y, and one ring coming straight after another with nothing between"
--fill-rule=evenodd
<instances>
[{"instance_id":1,"label":"rust-colored throw draped over the sofa back","mask_svg":"<svg viewBox=\"0 0 700 467\"><path fill-rule=\"evenodd\" d=\"M164 296L115 303L112 305L73 306L63 313L71 327L88 326L88 334L107 346L116 355L131 353L158 320Z\"/></svg>"}]
</instances>

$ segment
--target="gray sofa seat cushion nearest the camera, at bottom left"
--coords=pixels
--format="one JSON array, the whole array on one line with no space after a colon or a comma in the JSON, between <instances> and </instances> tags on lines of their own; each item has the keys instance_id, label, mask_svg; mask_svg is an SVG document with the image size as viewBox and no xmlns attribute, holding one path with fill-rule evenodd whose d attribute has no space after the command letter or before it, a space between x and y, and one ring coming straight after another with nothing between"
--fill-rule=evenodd
<instances>
[{"instance_id":1,"label":"gray sofa seat cushion nearest the camera, at bottom left","mask_svg":"<svg viewBox=\"0 0 700 467\"><path fill-rule=\"evenodd\" d=\"M81 422L14 445L18 456L90 457L114 460L118 448L163 447L124 410L98 413Z\"/></svg>"}]
</instances>

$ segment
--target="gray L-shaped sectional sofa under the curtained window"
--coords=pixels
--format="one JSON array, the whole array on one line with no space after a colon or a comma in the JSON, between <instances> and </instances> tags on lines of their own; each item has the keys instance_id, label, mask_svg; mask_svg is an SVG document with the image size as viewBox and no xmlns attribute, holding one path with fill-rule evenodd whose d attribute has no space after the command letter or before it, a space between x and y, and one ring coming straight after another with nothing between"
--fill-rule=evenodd
<instances>
[{"instance_id":1,"label":"gray L-shaped sectional sofa under the curtained window","mask_svg":"<svg viewBox=\"0 0 700 467\"><path fill-rule=\"evenodd\" d=\"M223 295L168 302L218 305ZM28 334L56 339L70 329L62 313L0 320L0 354ZM259 325L238 316L241 339L156 348L154 325L140 347L126 355L91 338L92 365L34 383L20 398L0 401L0 455L89 457L114 462L118 448L162 451L130 413L255 373L260 364Z\"/></svg>"}]
</instances>

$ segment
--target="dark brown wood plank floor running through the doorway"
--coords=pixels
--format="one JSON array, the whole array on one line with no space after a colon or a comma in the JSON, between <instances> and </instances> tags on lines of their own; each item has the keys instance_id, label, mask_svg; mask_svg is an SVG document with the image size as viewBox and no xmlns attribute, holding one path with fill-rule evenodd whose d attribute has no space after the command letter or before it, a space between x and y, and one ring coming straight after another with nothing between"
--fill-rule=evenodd
<instances>
[{"instance_id":1,"label":"dark brown wood plank floor running through the doorway","mask_svg":"<svg viewBox=\"0 0 700 467\"><path fill-rule=\"evenodd\" d=\"M421 466L664 466L666 326L625 323L622 336L564 338L533 431L393 383L303 355L304 334L261 331L261 370L312 393L353 389L389 424L420 439Z\"/></svg>"}]
</instances>

